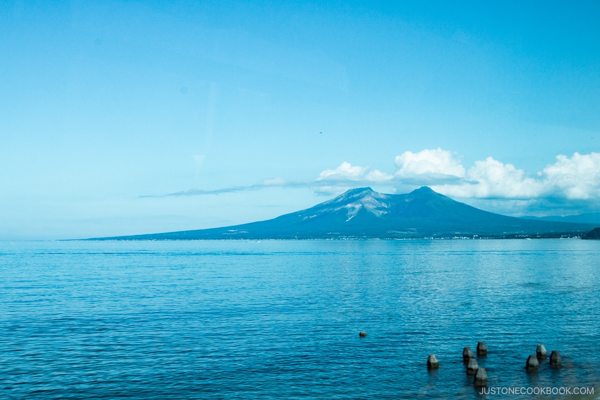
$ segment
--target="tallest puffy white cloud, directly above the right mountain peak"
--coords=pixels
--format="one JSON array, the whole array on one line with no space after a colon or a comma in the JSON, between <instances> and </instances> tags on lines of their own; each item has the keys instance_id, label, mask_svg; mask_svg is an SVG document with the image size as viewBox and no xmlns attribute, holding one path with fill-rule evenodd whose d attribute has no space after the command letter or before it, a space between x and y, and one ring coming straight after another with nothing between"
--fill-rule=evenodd
<instances>
[{"instance_id":1,"label":"tallest puffy white cloud, directly above the right mountain peak","mask_svg":"<svg viewBox=\"0 0 600 400\"><path fill-rule=\"evenodd\" d=\"M452 152L440 148L434 150L425 149L418 153L406 151L395 158L395 175L419 176L419 175L446 175L457 178L464 177L464 167L460 159Z\"/></svg>"}]
</instances>

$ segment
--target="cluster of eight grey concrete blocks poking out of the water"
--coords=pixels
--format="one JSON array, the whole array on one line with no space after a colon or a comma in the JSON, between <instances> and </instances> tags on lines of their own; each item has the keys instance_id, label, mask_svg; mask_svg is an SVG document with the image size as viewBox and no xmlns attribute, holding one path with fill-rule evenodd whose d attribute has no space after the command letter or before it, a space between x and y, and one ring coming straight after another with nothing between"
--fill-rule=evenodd
<instances>
[{"instance_id":1,"label":"cluster of eight grey concrete blocks poking out of the water","mask_svg":"<svg viewBox=\"0 0 600 400\"><path fill-rule=\"evenodd\" d=\"M477 356L487 356L487 346L484 342L478 342L477 344ZM526 369L527 371L535 371L538 369L539 362L545 360L548 357L548 352L543 344L538 344L535 356L529 356L527 358ZM470 347L463 348L463 362L466 365L467 375L473 375L473 384L475 386L487 386L487 372L485 368L479 368L475 355ZM550 365L560 365L561 358L558 350L553 350L550 354ZM427 357L427 368L437 369L440 366L440 362L435 354L429 354Z\"/></svg>"}]
</instances>

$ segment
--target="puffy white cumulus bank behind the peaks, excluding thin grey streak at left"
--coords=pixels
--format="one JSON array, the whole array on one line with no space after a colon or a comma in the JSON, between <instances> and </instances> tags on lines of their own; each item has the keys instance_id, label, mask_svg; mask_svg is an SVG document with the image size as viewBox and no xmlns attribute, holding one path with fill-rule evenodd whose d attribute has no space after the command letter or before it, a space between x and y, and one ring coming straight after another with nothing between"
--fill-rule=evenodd
<instances>
[{"instance_id":1,"label":"puffy white cumulus bank behind the peaks, excluding thin grey streak at left","mask_svg":"<svg viewBox=\"0 0 600 400\"><path fill-rule=\"evenodd\" d=\"M341 189L349 181L377 185L429 185L446 196L462 199L600 199L600 153L575 153L572 157L557 155L556 163L535 175L492 157L475 161L466 169L458 155L439 148L404 152L395 158L395 166L397 170L389 175L344 162L337 169L320 173L317 182L320 182L322 190ZM325 182L329 185L323 185Z\"/></svg>"}]
</instances>

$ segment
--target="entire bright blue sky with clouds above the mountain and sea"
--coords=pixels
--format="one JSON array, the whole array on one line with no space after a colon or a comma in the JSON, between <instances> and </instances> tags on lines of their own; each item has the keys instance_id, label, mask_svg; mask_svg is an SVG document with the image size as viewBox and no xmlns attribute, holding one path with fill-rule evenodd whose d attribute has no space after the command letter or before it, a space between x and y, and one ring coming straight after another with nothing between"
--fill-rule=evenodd
<instances>
[{"instance_id":1,"label":"entire bright blue sky with clouds above the mountain and sea","mask_svg":"<svg viewBox=\"0 0 600 400\"><path fill-rule=\"evenodd\" d=\"M0 0L0 240L600 211L600 3L419 3Z\"/></svg>"}]
</instances>

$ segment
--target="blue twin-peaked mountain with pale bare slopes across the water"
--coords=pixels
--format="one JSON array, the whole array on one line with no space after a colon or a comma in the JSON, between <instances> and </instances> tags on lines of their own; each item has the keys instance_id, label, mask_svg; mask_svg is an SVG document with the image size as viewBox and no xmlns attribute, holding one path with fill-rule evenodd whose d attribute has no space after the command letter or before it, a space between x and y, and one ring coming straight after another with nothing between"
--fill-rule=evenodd
<instances>
[{"instance_id":1,"label":"blue twin-peaked mountain with pale bare slopes across the water","mask_svg":"<svg viewBox=\"0 0 600 400\"><path fill-rule=\"evenodd\" d=\"M382 194L371 188L358 188L314 207L267 221L222 228L100 239L560 237L561 233L568 232L573 236L590 231L593 227L587 224L499 215L452 200L428 187L408 194Z\"/></svg>"}]
</instances>

